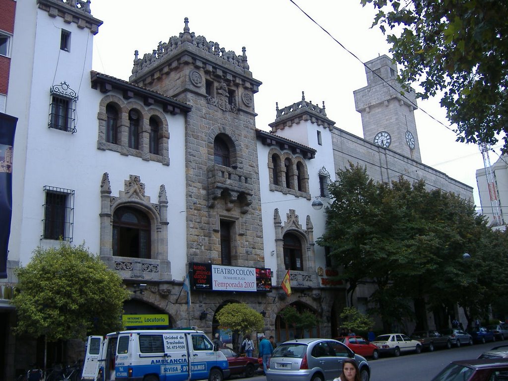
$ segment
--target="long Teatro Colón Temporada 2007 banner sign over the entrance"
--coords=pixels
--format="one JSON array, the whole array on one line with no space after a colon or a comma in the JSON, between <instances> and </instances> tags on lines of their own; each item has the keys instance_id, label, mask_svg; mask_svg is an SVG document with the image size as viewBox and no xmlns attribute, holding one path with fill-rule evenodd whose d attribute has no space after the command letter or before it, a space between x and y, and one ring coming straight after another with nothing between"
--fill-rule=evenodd
<instances>
[{"instance_id":1,"label":"long Teatro Col\u00f3n Temporada 2007 banner sign over the entrance","mask_svg":"<svg viewBox=\"0 0 508 381\"><path fill-rule=\"evenodd\" d=\"M272 291L270 269L191 263L190 273L192 288L197 291Z\"/></svg>"}]
</instances>

